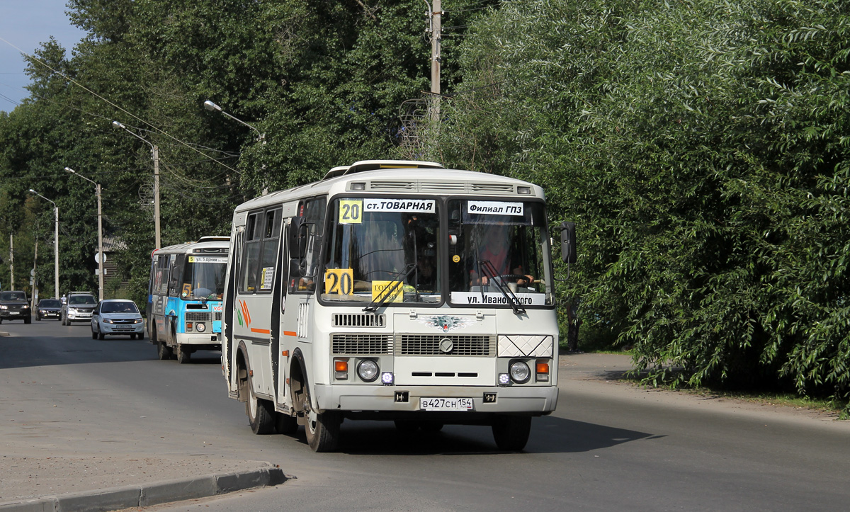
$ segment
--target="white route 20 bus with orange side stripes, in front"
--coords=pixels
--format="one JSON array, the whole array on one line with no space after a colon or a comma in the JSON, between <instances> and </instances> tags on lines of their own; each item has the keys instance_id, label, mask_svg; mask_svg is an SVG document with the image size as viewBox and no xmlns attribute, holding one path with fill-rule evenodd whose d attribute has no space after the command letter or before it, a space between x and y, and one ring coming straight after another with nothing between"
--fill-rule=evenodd
<instances>
[{"instance_id":1,"label":"white route 20 bus with orange side stripes, in front","mask_svg":"<svg viewBox=\"0 0 850 512\"><path fill-rule=\"evenodd\" d=\"M235 208L222 363L254 433L304 425L325 452L343 419L479 424L521 450L558 401L545 209L539 186L407 161Z\"/></svg>"}]
</instances>

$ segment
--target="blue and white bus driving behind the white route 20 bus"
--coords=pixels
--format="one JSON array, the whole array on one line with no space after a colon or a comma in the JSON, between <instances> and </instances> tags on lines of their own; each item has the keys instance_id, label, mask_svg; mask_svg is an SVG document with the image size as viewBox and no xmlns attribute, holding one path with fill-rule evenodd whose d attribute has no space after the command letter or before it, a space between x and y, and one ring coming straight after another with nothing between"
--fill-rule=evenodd
<instances>
[{"instance_id":1,"label":"blue and white bus driving behind the white route 20 bus","mask_svg":"<svg viewBox=\"0 0 850 512\"><path fill-rule=\"evenodd\" d=\"M228 236L203 236L151 253L147 329L160 359L221 349L228 246Z\"/></svg>"}]
</instances>

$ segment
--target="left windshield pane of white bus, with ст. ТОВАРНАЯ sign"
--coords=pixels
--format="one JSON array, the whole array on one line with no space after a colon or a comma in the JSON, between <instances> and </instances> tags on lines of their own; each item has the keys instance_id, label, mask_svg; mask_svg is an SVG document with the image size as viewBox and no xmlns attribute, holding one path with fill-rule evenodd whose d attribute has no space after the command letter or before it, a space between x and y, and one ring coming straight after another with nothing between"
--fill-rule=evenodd
<instances>
[{"instance_id":1,"label":"left windshield pane of white bus, with \u0441\u0442. \u0422\u041e\u0412\u0410\u0420\u041d\u0410\u042f sign","mask_svg":"<svg viewBox=\"0 0 850 512\"><path fill-rule=\"evenodd\" d=\"M337 198L328 218L322 299L441 302L436 200Z\"/></svg>"}]
</instances>

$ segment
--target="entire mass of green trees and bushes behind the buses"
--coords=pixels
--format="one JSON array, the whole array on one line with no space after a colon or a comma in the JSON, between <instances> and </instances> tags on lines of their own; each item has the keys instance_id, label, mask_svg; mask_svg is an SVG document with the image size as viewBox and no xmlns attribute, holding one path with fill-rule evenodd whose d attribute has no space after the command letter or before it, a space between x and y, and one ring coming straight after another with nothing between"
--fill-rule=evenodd
<instances>
[{"instance_id":1,"label":"entire mass of green trees and bushes behind the buses","mask_svg":"<svg viewBox=\"0 0 850 512\"><path fill-rule=\"evenodd\" d=\"M103 183L144 295L150 146L113 119L160 148L163 244L228 232L263 188L411 156L544 186L553 225L579 226L564 311L650 380L850 392L846 2L444 0L448 95L401 146L399 109L428 89L422 0L69 8L88 40L38 56L88 90L32 62L31 100L0 117L0 235L48 261L49 204L26 190L54 199L69 289L94 287L96 236L65 166Z\"/></svg>"}]
</instances>

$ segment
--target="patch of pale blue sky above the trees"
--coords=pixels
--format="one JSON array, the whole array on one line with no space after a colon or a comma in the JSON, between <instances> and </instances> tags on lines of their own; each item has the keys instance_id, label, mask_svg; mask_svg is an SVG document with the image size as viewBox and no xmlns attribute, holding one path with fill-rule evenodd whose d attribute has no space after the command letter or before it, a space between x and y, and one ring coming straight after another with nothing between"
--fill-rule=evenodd
<instances>
[{"instance_id":1,"label":"patch of pale blue sky above the trees","mask_svg":"<svg viewBox=\"0 0 850 512\"><path fill-rule=\"evenodd\" d=\"M86 33L68 20L66 2L0 0L0 38L5 39L0 40L0 111L13 111L30 95L24 88L30 82L24 73L24 58L9 43L32 54L53 36L71 56L71 49L85 37Z\"/></svg>"}]
</instances>

